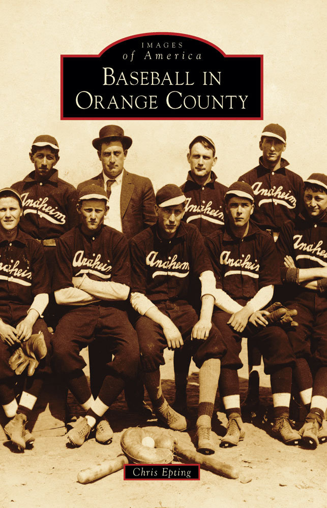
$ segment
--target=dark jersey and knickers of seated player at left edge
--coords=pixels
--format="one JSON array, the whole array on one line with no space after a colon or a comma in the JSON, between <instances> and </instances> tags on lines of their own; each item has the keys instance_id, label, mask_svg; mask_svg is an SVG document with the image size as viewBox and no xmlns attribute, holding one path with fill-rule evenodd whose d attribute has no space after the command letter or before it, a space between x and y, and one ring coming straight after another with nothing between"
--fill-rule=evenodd
<instances>
[{"instance_id":1,"label":"dark jersey and knickers of seated player at left edge","mask_svg":"<svg viewBox=\"0 0 327 508\"><path fill-rule=\"evenodd\" d=\"M26 317L35 296L49 292L49 275L41 245L19 229L15 240L0 240L0 317L4 323L16 327ZM51 336L41 318L33 326L33 333L39 331L44 334L49 352ZM17 345L10 346L0 340L1 380L16 375L8 361ZM48 353L40 362L38 374L50 372L49 364Z\"/></svg>"}]
</instances>

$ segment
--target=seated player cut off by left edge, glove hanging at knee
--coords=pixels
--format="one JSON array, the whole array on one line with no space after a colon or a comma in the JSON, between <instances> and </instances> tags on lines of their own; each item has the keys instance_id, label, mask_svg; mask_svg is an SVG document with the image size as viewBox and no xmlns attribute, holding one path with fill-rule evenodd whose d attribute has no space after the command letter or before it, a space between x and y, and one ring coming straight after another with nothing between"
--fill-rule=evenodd
<instances>
[{"instance_id":1,"label":"seated player cut off by left edge, glove hanging at knee","mask_svg":"<svg viewBox=\"0 0 327 508\"><path fill-rule=\"evenodd\" d=\"M50 373L49 354L46 354L35 374L25 378L17 405L15 385L18 378L9 365L11 356L39 331L43 332L50 351L50 334L41 319L49 300L49 276L41 245L19 228L22 209L16 190L0 190L0 403L10 418L5 432L21 451L26 442L34 441L25 425L43 379Z\"/></svg>"}]
</instances>

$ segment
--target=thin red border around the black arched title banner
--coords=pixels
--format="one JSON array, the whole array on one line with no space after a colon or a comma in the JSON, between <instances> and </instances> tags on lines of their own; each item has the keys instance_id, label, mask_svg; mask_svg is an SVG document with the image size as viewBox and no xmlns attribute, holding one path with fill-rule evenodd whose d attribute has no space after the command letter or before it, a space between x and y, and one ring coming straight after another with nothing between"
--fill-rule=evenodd
<instances>
[{"instance_id":1,"label":"thin red border around the black arched title banner","mask_svg":"<svg viewBox=\"0 0 327 508\"><path fill-rule=\"evenodd\" d=\"M260 111L261 116L260 117L240 117L240 118L230 118L230 117L155 117L155 118L148 118L144 116L140 117L121 117L121 116L106 116L106 117L65 117L63 116L63 59L65 57L75 57L75 58L99 58L107 49L111 48L112 46L115 46L116 44L119 44L124 41L128 41L130 39L136 39L137 37L143 37L143 36L153 36L153 35L174 35L174 36L181 36L181 37L187 37L189 39L195 39L197 41L204 42L205 44L209 44L215 49L218 49L218 51L224 56L228 58L247 58L247 57L260 57ZM263 120L263 55L227 55L224 53L222 49L220 49L218 46L213 44L210 41L207 41L205 39L201 39L200 37L195 37L193 35L188 34L180 34L176 32L148 32L145 34L135 34L129 37L124 37L123 39L119 39L118 41L113 42L112 44L109 44L109 46L106 46L98 55L60 55L60 119L61 120Z\"/></svg>"}]
</instances>

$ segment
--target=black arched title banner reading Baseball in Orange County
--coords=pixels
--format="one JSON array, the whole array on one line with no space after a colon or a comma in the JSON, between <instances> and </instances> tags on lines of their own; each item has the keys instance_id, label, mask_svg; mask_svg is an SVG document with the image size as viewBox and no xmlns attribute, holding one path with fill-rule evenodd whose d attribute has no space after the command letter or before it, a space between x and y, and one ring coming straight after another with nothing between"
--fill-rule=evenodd
<instances>
[{"instance_id":1,"label":"black arched title banner reading Baseball in Orange County","mask_svg":"<svg viewBox=\"0 0 327 508\"><path fill-rule=\"evenodd\" d=\"M262 119L262 59L171 33L62 55L61 119Z\"/></svg>"}]
</instances>

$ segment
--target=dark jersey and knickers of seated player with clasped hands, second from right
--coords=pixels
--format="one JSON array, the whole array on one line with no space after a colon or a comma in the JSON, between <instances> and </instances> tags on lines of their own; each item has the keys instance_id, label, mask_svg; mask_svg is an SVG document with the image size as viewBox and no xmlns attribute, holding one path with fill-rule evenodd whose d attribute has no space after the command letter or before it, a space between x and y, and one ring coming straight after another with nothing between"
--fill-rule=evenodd
<instances>
[{"instance_id":1,"label":"dark jersey and knickers of seated player with clasped hands, second from right","mask_svg":"<svg viewBox=\"0 0 327 508\"><path fill-rule=\"evenodd\" d=\"M261 289L280 283L277 251L273 238L249 223L248 234L236 238L229 226L221 228L205 239L213 265L218 289L225 291L233 300L244 306ZM215 309L213 322L222 333L227 345L227 354L222 358L222 367L239 369L242 337L253 336L246 327L240 333L227 322L230 314ZM293 353L284 330L278 326L260 329L255 335L264 360L267 374L280 366L293 362Z\"/></svg>"}]
</instances>

